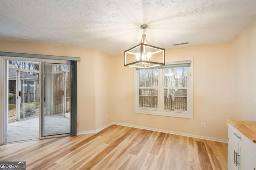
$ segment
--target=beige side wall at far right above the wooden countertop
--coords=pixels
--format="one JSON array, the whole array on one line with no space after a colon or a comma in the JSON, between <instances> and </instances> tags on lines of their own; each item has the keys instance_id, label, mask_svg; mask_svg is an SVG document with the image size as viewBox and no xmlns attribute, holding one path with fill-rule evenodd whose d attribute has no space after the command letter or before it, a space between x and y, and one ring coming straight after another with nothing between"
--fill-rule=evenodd
<instances>
[{"instance_id":1,"label":"beige side wall at far right above the wooden countertop","mask_svg":"<svg viewBox=\"0 0 256 170\"><path fill-rule=\"evenodd\" d=\"M232 43L234 119L256 121L256 21Z\"/></svg>"}]
</instances>

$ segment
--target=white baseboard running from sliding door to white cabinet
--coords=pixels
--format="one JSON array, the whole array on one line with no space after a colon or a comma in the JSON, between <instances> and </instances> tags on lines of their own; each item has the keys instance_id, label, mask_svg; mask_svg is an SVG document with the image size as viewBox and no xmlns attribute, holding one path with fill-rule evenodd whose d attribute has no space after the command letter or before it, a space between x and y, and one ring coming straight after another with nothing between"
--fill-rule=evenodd
<instances>
[{"instance_id":1,"label":"white baseboard running from sliding door to white cabinet","mask_svg":"<svg viewBox=\"0 0 256 170\"><path fill-rule=\"evenodd\" d=\"M96 129L95 131L78 132L78 135L88 134L88 133L97 133L97 132L101 131L102 129L105 129L106 127L108 127L110 125L121 125L121 126L127 126L127 127L134 127L134 128L138 128L138 129L145 129L145 130L150 130L150 131L158 131L158 132L170 133L170 134L174 134L174 135L181 135L181 136L186 136L186 137L205 139L205 140L209 140L209 141L217 141L217 142L228 143L228 141L224 140L224 139L218 139L218 138L212 138L212 137L204 137L204 136L199 136L199 135L192 135L192 134L173 132L173 131L166 131L166 130L162 130L162 129L155 129L155 128L150 128L150 127L129 125L129 124L117 123L117 122L109 123L108 125L105 125L105 126L99 128L99 129Z\"/></svg>"}]
</instances>

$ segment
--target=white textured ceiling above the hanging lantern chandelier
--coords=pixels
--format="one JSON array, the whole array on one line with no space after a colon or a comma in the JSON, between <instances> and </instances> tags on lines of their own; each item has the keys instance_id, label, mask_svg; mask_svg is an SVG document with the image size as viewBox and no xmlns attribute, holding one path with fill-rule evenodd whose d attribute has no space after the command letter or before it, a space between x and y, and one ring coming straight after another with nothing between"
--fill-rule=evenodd
<instances>
[{"instance_id":1,"label":"white textured ceiling above the hanging lantern chandelier","mask_svg":"<svg viewBox=\"0 0 256 170\"><path fill-rule=\"evenodd\" d=\"M256 0L0 0L0 39L99 49L165 49L232 41L256 20ZM173 44L190 42L188 45Z\"/></svg>"}]
</instances>

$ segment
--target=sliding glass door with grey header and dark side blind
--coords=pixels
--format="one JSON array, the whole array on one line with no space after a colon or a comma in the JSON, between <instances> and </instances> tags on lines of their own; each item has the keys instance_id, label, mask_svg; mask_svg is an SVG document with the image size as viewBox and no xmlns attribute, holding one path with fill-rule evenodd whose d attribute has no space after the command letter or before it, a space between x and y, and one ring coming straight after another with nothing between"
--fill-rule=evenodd
<instances>
[{"instance_id":1,"label":"sliding glass door with grey header and dark side blind","mask_svg":"<svg viewBox=\"0 0 256 170\"><path fill-rule=\"evenodd\" d=\"M0 52L0 145L76 135L77 61Z\"/></svg>"}]
</instances>

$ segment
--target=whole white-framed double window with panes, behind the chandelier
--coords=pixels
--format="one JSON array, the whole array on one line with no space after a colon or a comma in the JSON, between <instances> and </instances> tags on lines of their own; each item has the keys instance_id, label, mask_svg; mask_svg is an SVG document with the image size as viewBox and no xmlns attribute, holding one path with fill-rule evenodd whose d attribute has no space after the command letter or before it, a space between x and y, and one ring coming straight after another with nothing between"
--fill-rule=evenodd
<instances>
[{"instance_id":1,"label":"whole white-framed double window with panes, behind the chandelier","mask_svg":"<svg viewBox=\"0 0 256 170\"><path fill-rule=\"evenodd\" d=\"M134 113L193 119L193 59L135 70Z\"/></svg>"}]
</instances>

